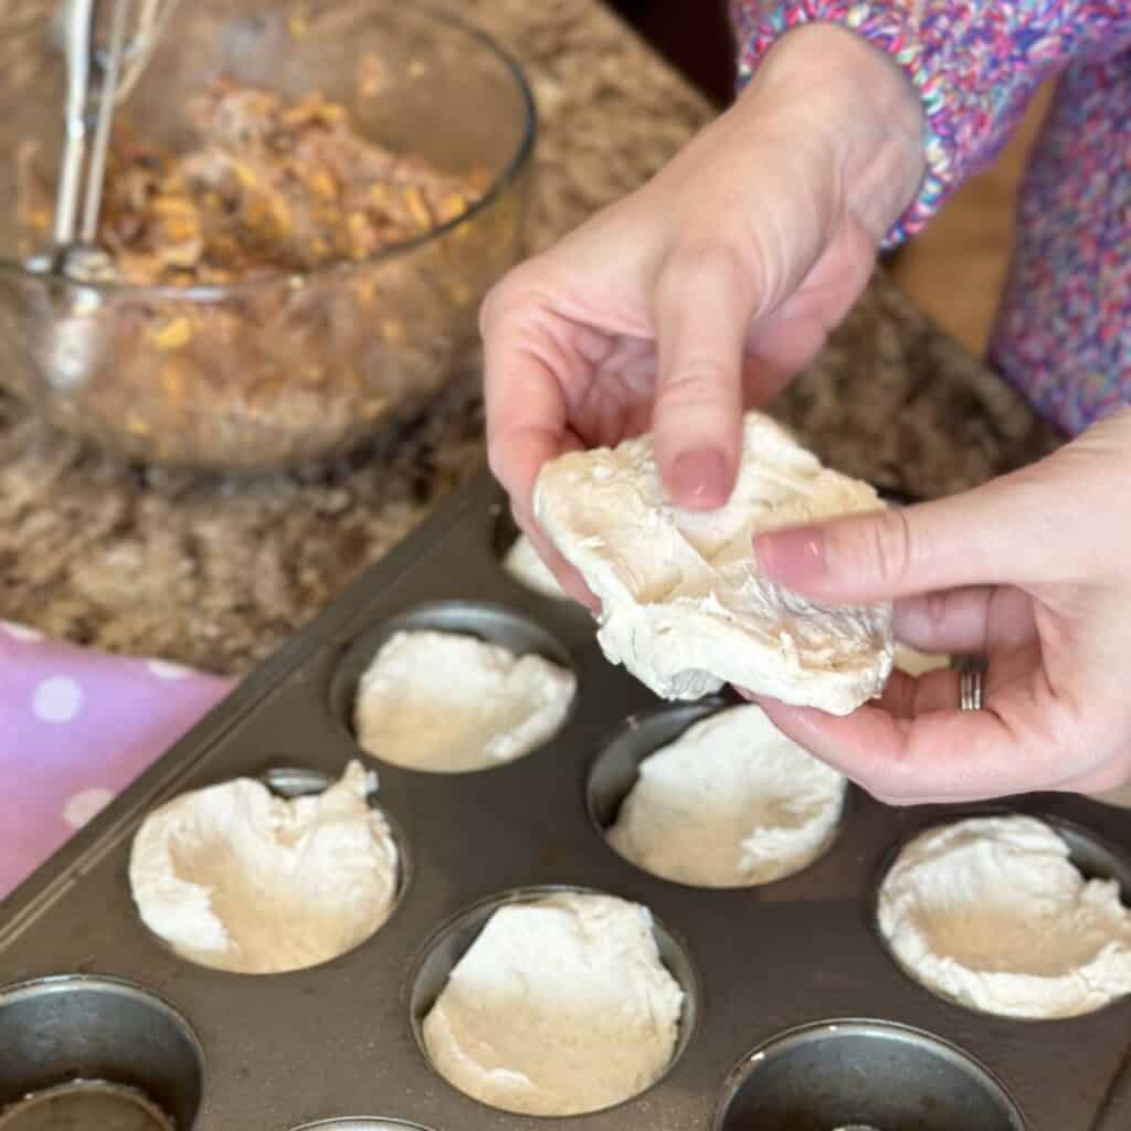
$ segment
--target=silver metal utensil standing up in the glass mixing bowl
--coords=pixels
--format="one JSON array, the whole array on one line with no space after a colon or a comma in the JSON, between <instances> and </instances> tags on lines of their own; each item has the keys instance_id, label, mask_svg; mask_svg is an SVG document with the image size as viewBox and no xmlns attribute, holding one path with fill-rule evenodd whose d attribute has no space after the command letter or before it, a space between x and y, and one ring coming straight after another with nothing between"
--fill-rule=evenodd
<instances>
[{"instance_id":1,"label":"silver metal utensil standing up in the glass mixing bowl","mask_svg":"<svg viewBox=\"0 0 1131 1131\"><path fill-rule=\"evenodd\" d=\"M110 40L98 49L95 19L102 3L112 5ZM77 283L115 278L113 260L97 245L114 110L137 85L178 3L64 0L57 12L52 35L67 59L67 100L54 248L34 257L31 269Z\"/></svg>"}]
</instances>

